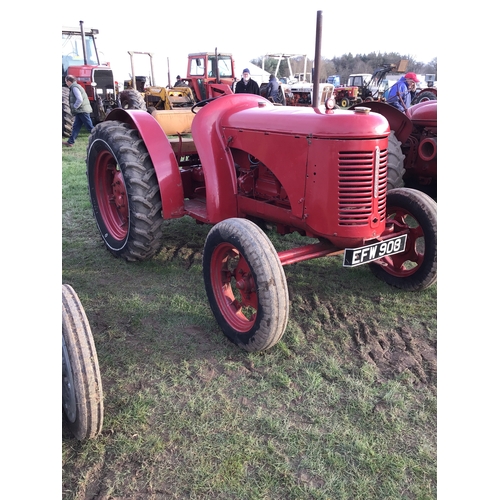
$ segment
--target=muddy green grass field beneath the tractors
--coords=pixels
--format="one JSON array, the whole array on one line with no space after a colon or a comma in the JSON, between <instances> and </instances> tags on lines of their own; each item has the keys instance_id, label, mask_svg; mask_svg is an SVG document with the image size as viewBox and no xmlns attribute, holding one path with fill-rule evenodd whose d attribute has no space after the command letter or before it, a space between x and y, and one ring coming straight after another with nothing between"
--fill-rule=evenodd
<instances>
[{"instance_id":1,"label":"muddy green grass field beneath the tractors","mask_svg":"<svg viewBox=\"0 0 500 500\"><path fill-rule=\"evenodd\" d=\"M105 418L82 443L63 425L62 497L436 498L436 286L401 292L338 257L286 266L285 335L241 351L205 294L210 227L165 222L147 262L106 250L87 137L62 151L62 282L92 328Z\"/></svg>"}]
</instances>

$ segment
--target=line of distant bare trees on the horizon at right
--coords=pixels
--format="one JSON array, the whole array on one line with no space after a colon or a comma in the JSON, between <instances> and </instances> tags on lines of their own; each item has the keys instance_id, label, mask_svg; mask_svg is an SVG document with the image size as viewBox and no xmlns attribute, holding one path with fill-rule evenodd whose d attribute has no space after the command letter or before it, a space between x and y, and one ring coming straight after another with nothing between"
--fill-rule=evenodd
<instances>
[{"instance_id":1,"label":"line of distant bare trees on the horizon at right","mask_svg":"<svg viewBox=\"0 0 500 500\"><path fill-rule=\"evenodd\" d=\"M257 59L253 59L251 62L256 66L262 67L262 60L264 56ZM437 75L437 57L432 59L428 63L423 63L415 60L411 56L401 55L397 52L383 53L371 52L369 54L356 54L352 55L344 54L340 57L333 57L331 59L322 57L321 58L321 68L319 72L319 81L325 82L326 78L330 75L340 75L340 84L344 85L347 83L347 78L352 73L370 73L372 74L377 68L384 64L399 64L401 60L408 60L408 66L406 71L412 71L414 73L425 75L432 73ZM293 74L304 72L304 57L297 56L290 59L290 66L292 67ZM278 60L273 58L265 58L264 69L269 73L273 73L278 77L288 77L290 70L288 69L288 62L286 59L282 59L280 62L280 67L277 68ZM312 73L314 61L308 60L306 65L306 72ZM293 75L292 75L293 76Z\"/></svg>"}]
</instances>

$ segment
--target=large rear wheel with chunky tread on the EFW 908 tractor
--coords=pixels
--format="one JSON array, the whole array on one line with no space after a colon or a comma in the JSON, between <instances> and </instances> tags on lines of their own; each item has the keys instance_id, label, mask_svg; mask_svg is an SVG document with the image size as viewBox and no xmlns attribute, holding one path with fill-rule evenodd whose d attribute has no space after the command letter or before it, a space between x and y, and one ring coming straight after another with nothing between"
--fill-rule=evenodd
<instances>
[{"instance_id":1,"label":"large rear wheel with chunky tread on the EFW 908 tractor","mask_svg":"<svg viewBox=\"0 0 500 500\"><path fill-rule=\"evenodd\" d=\"M96 125L87 147L87 180L109 251L128 261L154 256L163 222L160 189L139 132L115 121Z\"/></svg>"}]
</instances>

